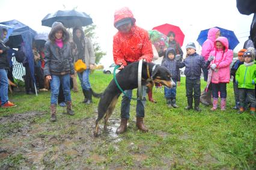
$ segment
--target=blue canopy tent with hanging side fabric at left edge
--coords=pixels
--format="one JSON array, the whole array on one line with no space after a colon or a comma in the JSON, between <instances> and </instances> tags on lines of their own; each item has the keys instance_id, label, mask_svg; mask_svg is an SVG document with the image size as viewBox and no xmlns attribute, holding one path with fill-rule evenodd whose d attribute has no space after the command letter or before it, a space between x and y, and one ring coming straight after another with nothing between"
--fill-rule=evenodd
<instances>
[{"instance_id":1,"label":"blue canopy tent with hanging side fabric at left edge","mask_svg":"<svg viewBox=\"0 0 256 170\"><path fill-rule=\"evenodd\" d=\"M9 40L6 43L7 46L11 48L20 47L21 43L24 43L24 52L26 58L28 58L32 79L34 80L34 84L36 84L34 76L34 55L32 52L32 40L37 34L37 32L29 28L29 26L19 22L18 20L9 20L6 22L1 22L0 24L7 25L13 28L13 32L11 33Z\"/></svg>"}]
</instances>

